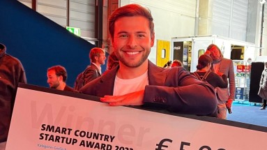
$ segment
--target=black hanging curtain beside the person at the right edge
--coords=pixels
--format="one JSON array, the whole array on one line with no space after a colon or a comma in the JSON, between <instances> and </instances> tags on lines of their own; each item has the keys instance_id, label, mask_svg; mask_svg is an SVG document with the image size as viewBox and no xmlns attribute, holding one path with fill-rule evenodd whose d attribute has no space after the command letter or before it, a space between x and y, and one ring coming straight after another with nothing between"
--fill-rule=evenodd
<instances>
[{"instance_id":1,"label":"black hanging curtain beside the person at the right edge","mask_svg":"<svg viewBox=\"0 0 267 150\"><path fill-rule=\"evenodd\" d=\"M258 96L259 81L261 80L261 73L264 70L263 62L253 62L251 64L250 74L250 98L252 103L261 103L261 98Z\"/></svg>"}]
</instances>

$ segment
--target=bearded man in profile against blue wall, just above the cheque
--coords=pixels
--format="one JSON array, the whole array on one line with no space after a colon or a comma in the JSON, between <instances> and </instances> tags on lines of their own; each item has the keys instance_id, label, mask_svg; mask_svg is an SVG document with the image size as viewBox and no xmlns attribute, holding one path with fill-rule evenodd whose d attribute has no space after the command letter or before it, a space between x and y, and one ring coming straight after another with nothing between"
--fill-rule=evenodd
<instances>
[{"instance_id":1,"label":"bearded man in profile against blue wall, just above the cheque","mask_svg":"<svg viewBox=\"0 0 267 150\"><path fill-rule=\"evenodd\" d=\"M57 65L47 69L47 83L51 89L77 92L75 89L68 87L66 80L67 71L63 66Z\"/></svg>"}]
</instances>

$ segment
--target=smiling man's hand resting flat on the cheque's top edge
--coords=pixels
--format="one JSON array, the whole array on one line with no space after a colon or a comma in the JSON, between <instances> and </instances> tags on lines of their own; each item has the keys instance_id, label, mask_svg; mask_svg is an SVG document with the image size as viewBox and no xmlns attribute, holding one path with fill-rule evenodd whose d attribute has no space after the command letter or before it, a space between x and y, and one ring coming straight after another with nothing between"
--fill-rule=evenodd
<instances>
[{"instance_id":1,"label":"smiling man's hand resting flat on the cheque's top edge","mask_svg":"<svg viewBox=\"0 0 267 150\"><path fill-rule=\"evenodd\" d=\"M109 103L111 106L121 105L143 105L144 90L127 93L123 96L104 96L100 100L104 103Z\"/></svg>"}]
</instances>

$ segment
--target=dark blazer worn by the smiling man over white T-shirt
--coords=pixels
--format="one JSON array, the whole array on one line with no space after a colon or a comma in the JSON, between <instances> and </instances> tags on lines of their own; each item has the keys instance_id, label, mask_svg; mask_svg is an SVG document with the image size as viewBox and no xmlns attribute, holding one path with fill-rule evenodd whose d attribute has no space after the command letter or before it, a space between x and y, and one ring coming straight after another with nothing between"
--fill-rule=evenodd
<instances>
[{"instance_id":1,"label":"dark blazer worn by the smiling man over white T-shirt","mask_svg":"<svg viewBox=\"0 0 267 150\"><path fill-rule=\"evenodd\" d=\"M100 96L113 95L114 80L119 66L89 82L81 93ZM183 114L213 114L217 100L213 87L197 80L183 67L160 68L148 61L148 82L144 91L144 105Z\"/></svg>"}]
</instances>

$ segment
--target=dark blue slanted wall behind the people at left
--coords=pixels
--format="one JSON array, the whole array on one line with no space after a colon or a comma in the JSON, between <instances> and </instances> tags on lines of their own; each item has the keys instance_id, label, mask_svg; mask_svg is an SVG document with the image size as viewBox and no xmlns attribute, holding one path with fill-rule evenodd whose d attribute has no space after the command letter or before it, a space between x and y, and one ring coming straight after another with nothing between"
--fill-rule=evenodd
<instances>
[{"instance_id":1,"label":"dark blue slanted wall behind the people at left","mask_svg":"<svg viewBox=\"0 0 267 150\"><path fill-rule=\"evenodd\" d=\"M0 1L0 43L22 61L29 84L48 87L47 68L64 66L67 84L89 65L94 45L16 0ZM106 66L102 66L102 72Z\"/></svg>"}]
</instances>

